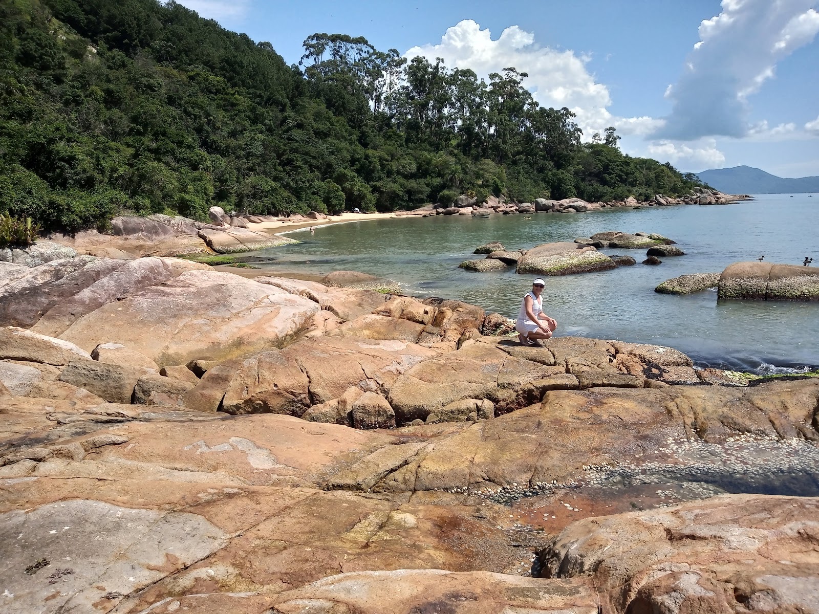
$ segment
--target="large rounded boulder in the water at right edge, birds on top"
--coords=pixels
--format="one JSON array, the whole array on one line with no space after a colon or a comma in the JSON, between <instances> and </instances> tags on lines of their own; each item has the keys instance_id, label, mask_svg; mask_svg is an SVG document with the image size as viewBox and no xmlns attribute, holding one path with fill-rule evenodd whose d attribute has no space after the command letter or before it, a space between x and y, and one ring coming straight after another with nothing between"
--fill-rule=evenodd
<instances>
[{"instance_id":1,"label":"large rounded boulder in the water at right edge, birds on top","mask_svg":"<svg viewBox=\"0 0 819 614\"><path fill-rule=\"evenodd\" d=\"M736 262L719 278L721 299L819 300L819 269L795 264Z\"/></svg>"}]
</instances>

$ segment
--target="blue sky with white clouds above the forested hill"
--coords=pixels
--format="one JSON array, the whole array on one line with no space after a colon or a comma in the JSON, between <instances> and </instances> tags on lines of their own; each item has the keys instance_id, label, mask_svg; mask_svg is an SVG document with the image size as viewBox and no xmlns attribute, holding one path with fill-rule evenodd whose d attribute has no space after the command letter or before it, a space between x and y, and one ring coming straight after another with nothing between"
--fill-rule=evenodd
<instances>
[{"instance_id":1,"label":"blue sky with white clouds above the forested hill","mask_svg":"<svg viewBox=\"0 0 819 614\"><path fill-rule=\"evenodd\" d=\"M289 64L316 32L487 77L682 171L819 175L819 0L179 0Z\"/></svg>"}]
</instances>

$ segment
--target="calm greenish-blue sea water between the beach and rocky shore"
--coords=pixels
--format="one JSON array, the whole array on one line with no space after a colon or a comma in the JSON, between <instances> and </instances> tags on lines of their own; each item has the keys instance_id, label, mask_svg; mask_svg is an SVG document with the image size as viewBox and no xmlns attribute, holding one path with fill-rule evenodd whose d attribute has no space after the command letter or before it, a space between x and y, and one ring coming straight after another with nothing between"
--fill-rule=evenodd
<instances>
[{"instance_id":1,"label":"calm greenish-blue sea water between the beach and rocky shore","mask_svg":"<svg viewBox=\"0 0 819 614\"><path fill-rule=\"evenodd\" d=\"M698 363L730 368L799 368L819 365L819 303L717 301L716 291L693 296L654 292L660 282L686 273L722 271L739 260L819 266L819 195L762 195L735 205L681 205L589 214L437 216L342 223L291 233L299 245L254 255L264 268L292 273L355 270L400 282L413 296L442 296L516 316L528 276L514 269L470 273L458 264L478 245L500 241L507 249L573 241L606 230L660 233L686 255L640 264L645 250L601 250L631 255L632 267L546 278L544 309L559 333L670 345Z\"/></svg>"}]
</instances>

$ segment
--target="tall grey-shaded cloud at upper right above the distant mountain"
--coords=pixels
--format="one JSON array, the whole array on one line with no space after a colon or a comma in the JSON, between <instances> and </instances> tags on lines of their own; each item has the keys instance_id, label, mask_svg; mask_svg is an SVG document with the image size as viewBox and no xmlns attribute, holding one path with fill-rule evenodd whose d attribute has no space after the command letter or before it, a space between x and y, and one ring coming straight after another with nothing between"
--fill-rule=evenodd
<instances>
[{"instance_id":1,"label":"tall grey-shaded cloud at upper right above the distant mountain","mask_svg":"<svg viewBox=\"0 0 819 614\"><path fill-rule=\"evenodd\" d=\"M776 74L776 64L819 32L817 0L722 0L722 12L699 25L676 84L674 103L656 138L691 140L710 135L744 137L747 98Z\"/></svg>"}]
</instances>

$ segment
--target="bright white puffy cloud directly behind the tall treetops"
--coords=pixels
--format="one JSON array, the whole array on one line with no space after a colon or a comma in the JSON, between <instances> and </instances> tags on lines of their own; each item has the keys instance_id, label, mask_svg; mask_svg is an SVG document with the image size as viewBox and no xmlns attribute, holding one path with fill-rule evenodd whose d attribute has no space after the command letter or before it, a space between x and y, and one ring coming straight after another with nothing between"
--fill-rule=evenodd
<instances>
[{"instance_id":1,"label":"bright white puffy cloud directly behind the tall treetops","mask_svg":"<svg viewBox=\"0 0 819 614\"><path fill-rule=\"evenodd\" d=\"M450 68L469 68L484 79L514 66L529 74L523 85L542 106L568 106L575 112L586 138L615 123L606 108L611 105L609 88L597 83L586 67L590 56L541 47L535 43L534 34L517 25L506 28L500 38L493 40L489 29L481 29L473 20L463 20L446 30L441 43L412 47L404 55L423 56L429 61L441 57Z\"/></svg>"}]
</instances>

